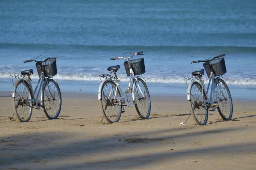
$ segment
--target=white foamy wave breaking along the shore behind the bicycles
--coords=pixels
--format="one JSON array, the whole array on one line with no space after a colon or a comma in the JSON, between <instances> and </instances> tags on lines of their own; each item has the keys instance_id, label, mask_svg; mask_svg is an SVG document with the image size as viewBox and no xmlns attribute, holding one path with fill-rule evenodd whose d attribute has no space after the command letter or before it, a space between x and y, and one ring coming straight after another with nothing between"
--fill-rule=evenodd
<instances>
[{"instance_id":1,"label":"white foamy wave breaking along the shore behind the bicycles","mask_svg":"<svg viewBox=\"0 0 256 170\"><path fill-rule=\"evenodd\" d=\"M175 76L175 77L162 77L162 76L143 76L147 82L150 83L164 83L164 84L172 84L172 83L186 83L186 80L183 77ZM8 73L0 73L0 78L10 78L10 74ZM119 74L118 78L122 80L122 82L128 82L129 77L125 74ZM37 74L32 75L32 79L38 79ZM56 80L74 80L74 81L99 81L100 76L92 75L92 74L57 74L54 76ZM238 85L238 86L256 86L256 79L252 78L225 78L226 83L230 85ZM208 82L208 79L205 79L205 82Z\"/></svg>"}]
</instances>

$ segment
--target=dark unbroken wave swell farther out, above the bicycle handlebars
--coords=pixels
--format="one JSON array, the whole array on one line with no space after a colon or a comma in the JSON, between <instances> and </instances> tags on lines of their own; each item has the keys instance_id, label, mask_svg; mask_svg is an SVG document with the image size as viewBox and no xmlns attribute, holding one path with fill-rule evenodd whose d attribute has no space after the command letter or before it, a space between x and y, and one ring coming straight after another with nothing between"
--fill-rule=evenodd
<instances>
[{"instance_id":1,"label":"dark unbroken wave swell farther out, above the bicycle handlebars","mask_svg":"<svg viewBox=\"0 0 256 170\"><path fill-rule=\"evenodd\" d=\"M0 43L0 48L21 48L21 49L76 49L76 50L134 50L143 49L145 51L219 51L225 49L227 53L252 52L256 53L255 46L212 46L212 45L87 45L87 44L34 44L34 43Z\"/></svg>"}]
</instances>

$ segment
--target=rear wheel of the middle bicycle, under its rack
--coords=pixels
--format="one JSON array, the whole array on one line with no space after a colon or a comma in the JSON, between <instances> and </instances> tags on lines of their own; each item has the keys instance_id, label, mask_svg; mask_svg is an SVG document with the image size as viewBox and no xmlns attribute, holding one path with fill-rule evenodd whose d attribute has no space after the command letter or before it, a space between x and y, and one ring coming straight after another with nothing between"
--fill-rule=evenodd
<instances>
[{"instance_id":1,"label":"rear wheel of the middle bicycle, under its rack","mask_svg":"<svg viewBox=\"0 0 256 170\"><path fill-rule=\"evenodd\" d=\"M116 100L119 97L121 97L121 93L118 88L116 91L116 84L111 80L104 82L101 89L100 106L102 107L103 116L108 123L117 122L121 117L122 103L118 103Z\"/></svg>"}]
</instances>

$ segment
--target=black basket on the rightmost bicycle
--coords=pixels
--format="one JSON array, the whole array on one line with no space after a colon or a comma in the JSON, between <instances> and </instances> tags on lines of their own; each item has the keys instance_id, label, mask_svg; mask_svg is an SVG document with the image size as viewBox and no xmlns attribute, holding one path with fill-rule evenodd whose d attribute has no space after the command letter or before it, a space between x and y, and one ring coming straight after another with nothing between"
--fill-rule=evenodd
<instances>
[{"instance_id":1,"label":"black basket on the rightmost bicycle","mask_svg":"<svg viewBox=\"0 0 256 170\"><path fill-rule=\"evenodd\" d=\"M227 72L224 58L214 59L213 61L210 61L210 65L212 66L214 76L220 76ZM210 78L211 69L208 62L204 63L203 66L208 78Z\"/></svg>"}]
</instances>

